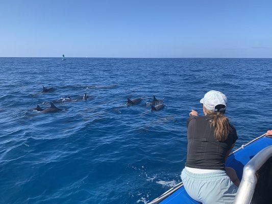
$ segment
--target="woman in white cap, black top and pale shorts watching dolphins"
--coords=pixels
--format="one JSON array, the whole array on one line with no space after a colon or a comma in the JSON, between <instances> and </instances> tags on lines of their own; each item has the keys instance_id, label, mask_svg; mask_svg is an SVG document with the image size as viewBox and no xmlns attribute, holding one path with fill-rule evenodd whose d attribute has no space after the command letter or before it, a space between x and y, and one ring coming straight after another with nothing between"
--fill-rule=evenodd
<instances>
[{"instance_id":1,"label":"woman in white cap, black top and pale shorts watching dolphins","mask_svg":"<svg viewBox=\"0 0 272 204\"><path fill-rule=\"evenodd\" d=\"M187 160L182 182L196 201L233 203L240 181L233 168L225 167L225 162L238 137L224 116L227 97L219 91L209 91L200 103L204 116L192 110L187 120Z\"/></svg>"}]
</instances>

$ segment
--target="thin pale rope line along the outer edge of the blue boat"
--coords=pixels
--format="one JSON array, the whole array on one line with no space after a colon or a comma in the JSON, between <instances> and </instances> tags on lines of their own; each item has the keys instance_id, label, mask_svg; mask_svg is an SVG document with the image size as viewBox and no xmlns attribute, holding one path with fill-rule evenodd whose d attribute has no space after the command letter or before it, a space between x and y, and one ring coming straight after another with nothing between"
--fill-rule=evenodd
<instances>
[{"instance_id":1,"label":"thin pale rope line along the outer edge of the blue boat","mask_svg":"<svg viewBox=\"0 0 272 204\"><path fill-rule=\"evenodd\" d=\"M251 141L249 141L249 142L246 143L246 144L242 144L241 147L239 147L239 148L235 149L234 151L232 151L232 152L230 153L229 156L231 156L231 155L234 154L236 151L238 151L238 150L240 150L240 149L243 149L245 146L251 144L252 142L254 142L254 141L256 141L256 140L258 140L258 139L260 139L260 138L262 138L262 137L264 137L264 136L266 136L266 133L263 134L263 135L261 135L261 136L259 136L259 137L257 137L257 138L255 138L255 139L253 139L253 140L251 140ZM179 188L181 188L182 186L183 186L183 183L182 183L182 182L178 183L176 186L170 188L168 191L164 192L162 195L160 195L159 197L155 198L154 200L150 201L150 202L147 203L147 204L156 204L156 203L159 203L159 202L162 201L164 198L168 197L169 195L171 195L172 193L174 193L175 191L177 191L177 190L178 190Z\"/></svg>"}]
</instances>

